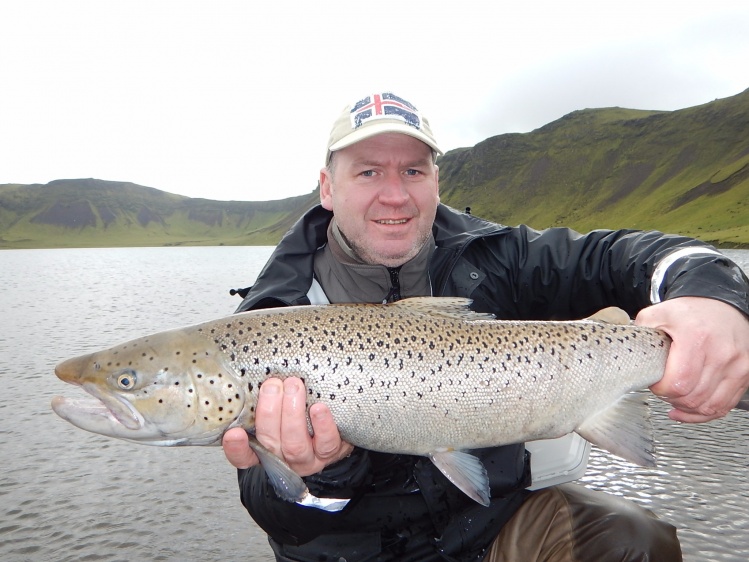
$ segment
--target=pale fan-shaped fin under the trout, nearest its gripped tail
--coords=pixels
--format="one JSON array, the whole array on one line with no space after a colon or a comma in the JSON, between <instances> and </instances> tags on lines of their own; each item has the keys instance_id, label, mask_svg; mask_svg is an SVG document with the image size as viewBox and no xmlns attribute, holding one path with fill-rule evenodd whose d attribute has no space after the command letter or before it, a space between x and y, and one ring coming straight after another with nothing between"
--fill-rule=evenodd
<instances>
[{"instance_id":1,"label":"pale fan-shaped fin under the trout, nearest its gripped tail","mask_svg":"<svg viewBox=\"0 0 749 562\"><path fill-rule=\"evenodd\" d=\"M644 394L625 394L575 431L594 445L640 466L655 466L653 426Z\"/></svg>"}]
</instances>

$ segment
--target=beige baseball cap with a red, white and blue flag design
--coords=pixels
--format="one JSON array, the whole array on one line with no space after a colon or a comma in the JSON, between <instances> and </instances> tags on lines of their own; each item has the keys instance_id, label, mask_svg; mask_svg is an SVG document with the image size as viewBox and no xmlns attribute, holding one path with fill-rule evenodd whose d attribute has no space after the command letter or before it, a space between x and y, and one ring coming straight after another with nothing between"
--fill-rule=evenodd
<instances>
[{"instance_id":1,"label":"beige baseball cap with a red, white and blue flag design","mask_svg":"<svg viewBox=\"0 0 749 562\"><path fill-rule=\"evenodd\" d=\"M402 97L383 92L370 94L343 109L330 131L325 165L336 150L382 133L403 133L419 139L435 153L443 153L426 117Z\"/></svg>"}]
</instances>

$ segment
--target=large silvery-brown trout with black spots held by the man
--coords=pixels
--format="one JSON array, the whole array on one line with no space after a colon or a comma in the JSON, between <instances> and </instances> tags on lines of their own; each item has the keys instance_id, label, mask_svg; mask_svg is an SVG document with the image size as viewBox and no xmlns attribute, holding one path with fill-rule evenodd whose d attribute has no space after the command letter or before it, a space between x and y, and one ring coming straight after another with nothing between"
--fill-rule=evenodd
<instances>
[{"instance_id":1,"label":"large silvery-brown trout with black spots held by the man","mask_svg":"<svg viewBox=\"0 0 749 562\"><path fill-rule=\"evenodd\" d=\"M304 379L341 436L366 449L424 455L488 504L480 461L464 451L575 431L652 465L647 404L669 338L617 322L500 321L461 298L388 305L274 308L161 332L55 369L94 397L55 397L54 411L95 433L150 445L214 445L243 427L278 494L306 486L254 438L268 377ZM595 318L595 317L594 317Z\"/></svg>"}]
</instances>

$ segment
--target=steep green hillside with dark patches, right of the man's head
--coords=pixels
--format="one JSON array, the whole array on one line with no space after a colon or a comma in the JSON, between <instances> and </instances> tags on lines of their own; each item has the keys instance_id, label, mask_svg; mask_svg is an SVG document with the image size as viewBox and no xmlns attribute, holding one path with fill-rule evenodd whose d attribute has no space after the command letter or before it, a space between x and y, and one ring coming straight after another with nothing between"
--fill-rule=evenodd
<instances>
[{"instance_id":1,"label":"steep green hillside with dark patches, right of the man's head","mask_svg":"<svg viewBox=\"0 0 749 562\"><path fill-rule=\"evenodd\" d=\"M505 224L749 244L749 91L677 112L574 112L441 161L442 200Z\"/></svg>"}]
</instances>

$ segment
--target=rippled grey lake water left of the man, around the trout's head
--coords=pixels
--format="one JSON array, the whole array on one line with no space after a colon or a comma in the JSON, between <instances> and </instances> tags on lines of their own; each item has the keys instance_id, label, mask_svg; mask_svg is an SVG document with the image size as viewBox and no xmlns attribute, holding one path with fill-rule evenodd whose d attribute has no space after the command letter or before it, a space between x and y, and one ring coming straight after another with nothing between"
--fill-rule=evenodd
<instances>
[{"instance_id":1,"label":"rippled grey lake water left of the man, around the trout's head","mask_svg":"<svg viewBox=\"0 0 749 562\"><path fill-rule=\"evenodd\" d=\"M216 318L271 248L0 252L0 560L270 561L219 448L146 447L76 429L60 360Z\"/></svg>"}]
</instances>

